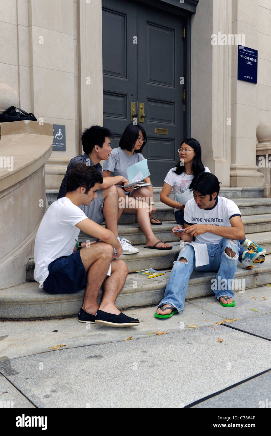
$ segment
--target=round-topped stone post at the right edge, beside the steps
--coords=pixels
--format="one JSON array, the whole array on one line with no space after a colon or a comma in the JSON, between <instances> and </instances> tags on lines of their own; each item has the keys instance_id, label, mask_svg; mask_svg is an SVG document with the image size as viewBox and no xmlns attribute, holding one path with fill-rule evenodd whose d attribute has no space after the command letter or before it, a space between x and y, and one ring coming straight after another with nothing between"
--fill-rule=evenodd
<instances>
[{"instance_id":1,"label":"round-topped stone post at the right edge, beside the steps","mask_svg":"<svg viewBox=\"0 0 271 436\"><path fill-rule=\"evenodd\" d=\"M264 197L271 196L271 125L259 123L257 126L256 164L264 174Z\"/></svg>"}]
</instances>

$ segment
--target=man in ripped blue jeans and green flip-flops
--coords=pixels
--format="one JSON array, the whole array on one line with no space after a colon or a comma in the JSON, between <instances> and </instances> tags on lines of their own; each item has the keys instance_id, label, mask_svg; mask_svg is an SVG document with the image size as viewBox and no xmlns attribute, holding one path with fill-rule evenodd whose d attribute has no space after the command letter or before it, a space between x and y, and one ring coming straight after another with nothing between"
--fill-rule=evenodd
<instances>
[{"instance_id":1,"label":"man in ripped blue jeans and green flip-flops","mask_svg":"<svg viewBox=\"0 0 271 436\"><path fill-rule=\"evenodd\" d=\"M218 197L219 181L214 174L202 173L194 177L190 189L194 199L187 201L184 208L186 232L181 239L192 242L195 236L196 242L207 244L209 264L195 267L194 249L185 245L174 262L164 298L158 304L155 313L158 318L171 317L184 309L188 280L194 267L197 271L218 271L211 289L221 305L235 305L232 279L238 263L239 239L245 235L241 213L232 200ZM174 234L180 237L180 233Z\"/></svg>"}]
</instances>

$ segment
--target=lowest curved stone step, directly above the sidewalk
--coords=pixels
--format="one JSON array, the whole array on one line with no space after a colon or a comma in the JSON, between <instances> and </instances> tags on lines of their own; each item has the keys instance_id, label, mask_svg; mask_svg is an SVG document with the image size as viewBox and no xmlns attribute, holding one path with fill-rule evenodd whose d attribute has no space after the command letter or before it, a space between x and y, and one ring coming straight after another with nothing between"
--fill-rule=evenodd
<instances>
[{"instance_id":1,"label":"lowest curved stone step, directly above the sidewalk","mask_svg":"<svg viewBox=\"0 0 271 436\"><path fill-rule=\"evenodd\" d=\"M139 307L157 304L164 295L170 270L164 276L147 279L137 273L128 275L117 297L117 307ZM193 271L189 280L187 299L212 295L211 279L215 272ZM244 279L244 291L271 282L271 255L262 265L245 270L238 266L236 279ZM238 291L235 291L238 292ZM101 292L100 292L101 294ZM257 289L255 289L257 295ZM1 319L38 319L76 316L82 306L84 290L75 294L47 294L37 283L23 283L0 290ZM215 300L214 300L215 303Z\"/></svg>"}]
</instances>

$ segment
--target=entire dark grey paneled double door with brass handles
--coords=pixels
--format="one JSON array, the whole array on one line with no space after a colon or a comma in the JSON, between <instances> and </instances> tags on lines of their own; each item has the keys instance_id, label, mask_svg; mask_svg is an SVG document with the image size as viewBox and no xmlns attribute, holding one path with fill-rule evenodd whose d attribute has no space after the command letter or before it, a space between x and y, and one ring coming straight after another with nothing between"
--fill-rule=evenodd
<instances>
[{"instance_id":1,"label":"entire dark grey paneled double door with brass handles","mask_svg":"<svg viewBox=\"0 0 271 436\"><path fill-rule=\"evenodd\" d=\"M104 126L117 147L137 113L148 137L143 155L151 181L163 186L184 135L184 22L124 0L103 0L102 6Z\"/></svg>"}]
</instances>

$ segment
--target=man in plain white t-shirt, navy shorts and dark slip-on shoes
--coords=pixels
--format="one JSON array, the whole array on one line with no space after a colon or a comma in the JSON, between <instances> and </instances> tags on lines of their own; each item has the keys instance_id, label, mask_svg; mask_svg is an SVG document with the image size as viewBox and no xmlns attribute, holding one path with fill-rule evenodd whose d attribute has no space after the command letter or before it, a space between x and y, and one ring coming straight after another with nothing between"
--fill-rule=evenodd
<instances>
[{"instance_id":1,"label":"man in plain white t-shirt, navy shorts and dark slip-on shoes","mask_svg":"<svg viewBox=\"0 0 271 436\"><path fill-rule=\"evenodd\" d=\"M126 263L117 259L122 253L120 241L79 208L97 198L101 183L103 177L94 167L78 163L70 169L67 194L51 204L37 231L34 279L48 293L74 293L86 285L80 322L133 327L139 320L127 317L115 306L128 274ZM78 243L80 230L101 242ZM107 276L110 265L111 275ZM102 285L99 307L97 296Z\"/></svg>"}]
</instances>

